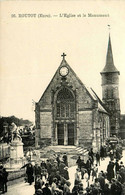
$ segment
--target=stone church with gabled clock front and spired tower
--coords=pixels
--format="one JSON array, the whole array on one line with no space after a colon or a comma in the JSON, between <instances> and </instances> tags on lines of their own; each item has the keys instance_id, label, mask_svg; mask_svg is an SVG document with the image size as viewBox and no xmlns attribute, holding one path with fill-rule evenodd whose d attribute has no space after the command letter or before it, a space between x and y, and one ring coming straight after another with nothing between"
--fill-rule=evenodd
<instances>
[{"instance_id":1,"label":"stone church with gabled clock front and spired tower","mask_svg":"<svg viewBox=\"0 0 125 195\"><path fill-rule=\"evenodd\" d=\"M82 83L65 58L63 53L60 66L36 103L36 147L74 145L98 150L110 136L110 121L113 131L114 117L119 117L119 71L113 64L110 37L106 66L101 72L104 102ZM118 111L111 120L110 105Z\"/></svg>"}]
</instances>

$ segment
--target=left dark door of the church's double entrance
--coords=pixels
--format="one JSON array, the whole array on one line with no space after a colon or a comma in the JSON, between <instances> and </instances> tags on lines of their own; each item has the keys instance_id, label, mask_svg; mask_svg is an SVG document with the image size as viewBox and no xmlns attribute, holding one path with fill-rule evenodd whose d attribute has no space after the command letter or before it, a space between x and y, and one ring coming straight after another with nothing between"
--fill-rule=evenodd
<instances>
[{"instance_id":1,"label":"left dark door of the church's double entrance","mask_svg":"<svg viewBox=\"0 0 125 195\"><path fill-rule=\"evenodd\" d=\"M64 145L64 124L57 124L58 145Z\"/></svg>"}]
</instances>

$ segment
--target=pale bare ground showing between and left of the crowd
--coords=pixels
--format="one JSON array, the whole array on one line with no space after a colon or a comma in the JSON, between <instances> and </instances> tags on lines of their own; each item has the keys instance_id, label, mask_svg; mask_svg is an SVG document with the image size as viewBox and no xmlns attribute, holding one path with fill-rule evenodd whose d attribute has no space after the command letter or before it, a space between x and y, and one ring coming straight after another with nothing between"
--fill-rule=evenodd
<instances>
[{"instance_id":1,"label":"pale bare ground showing between and left of the crowd","mask_svg":"<svg viewBox=\"0 0 125 195\"><path fill-rule=\"evenodd\" d=\"M125 150L123 151L123 158L121 159L125 165ZM101 161L101 165L98 167L98 170L106 171L107 164L109 162L109 158L107 157L105 160ZM74 174L76 171L76 166L69 168L69 176L70 176L70 182L71 182L71 188L74 185ZM90 179L91 180L91 179ZM86 187L86 183L84 180L82 180L83 186ZM90 181L92 183L92 181ZM8 192L5 193L5 195L33 195L34 194L34 185L31 186L27 183L20 182L15 185L11 185L8 187Z\"/></svg>"}]
</instances>

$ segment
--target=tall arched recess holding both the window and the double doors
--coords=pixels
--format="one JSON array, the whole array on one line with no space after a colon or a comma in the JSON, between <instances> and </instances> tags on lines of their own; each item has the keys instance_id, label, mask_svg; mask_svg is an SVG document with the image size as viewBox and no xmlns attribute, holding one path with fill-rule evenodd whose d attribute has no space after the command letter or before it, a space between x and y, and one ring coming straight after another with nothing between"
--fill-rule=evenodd
<instances>
[{"instance_id":1,"label":"tall arched recess holding both the window and the double doors","mask_svg":"<svg viewBox=\"0 0 125 195\"><path fill-rule=\"evenodd\" d=\"M55 103L55 126L58 145L74 145L75 143L75 95L63 87L57 93Z\"/></svg>"}]
</instances>

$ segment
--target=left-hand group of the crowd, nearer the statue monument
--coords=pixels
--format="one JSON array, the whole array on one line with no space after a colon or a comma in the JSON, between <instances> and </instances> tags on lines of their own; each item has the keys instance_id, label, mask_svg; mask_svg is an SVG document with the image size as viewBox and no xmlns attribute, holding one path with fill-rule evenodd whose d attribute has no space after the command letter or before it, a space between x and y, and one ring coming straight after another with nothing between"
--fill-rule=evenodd
<instances>
[{"instance_id":1,"label":"left-hand group of the crowd, nearer the statue monument","mask_svg":"<svg viewBox=\"0 0 125 195\"><path fill-rule=\"evenodd\" d=\"M68 159L64 154L62 157L57 155L55 158L42 161L40 164L35 163L33 166L30 162L25 164L26 167L25 182L31 185L35 181L35 195L68 195L70 194L70 182L68 172ZM51 190L50 190L51 187Z\"/></svg>"}]
</instances>

